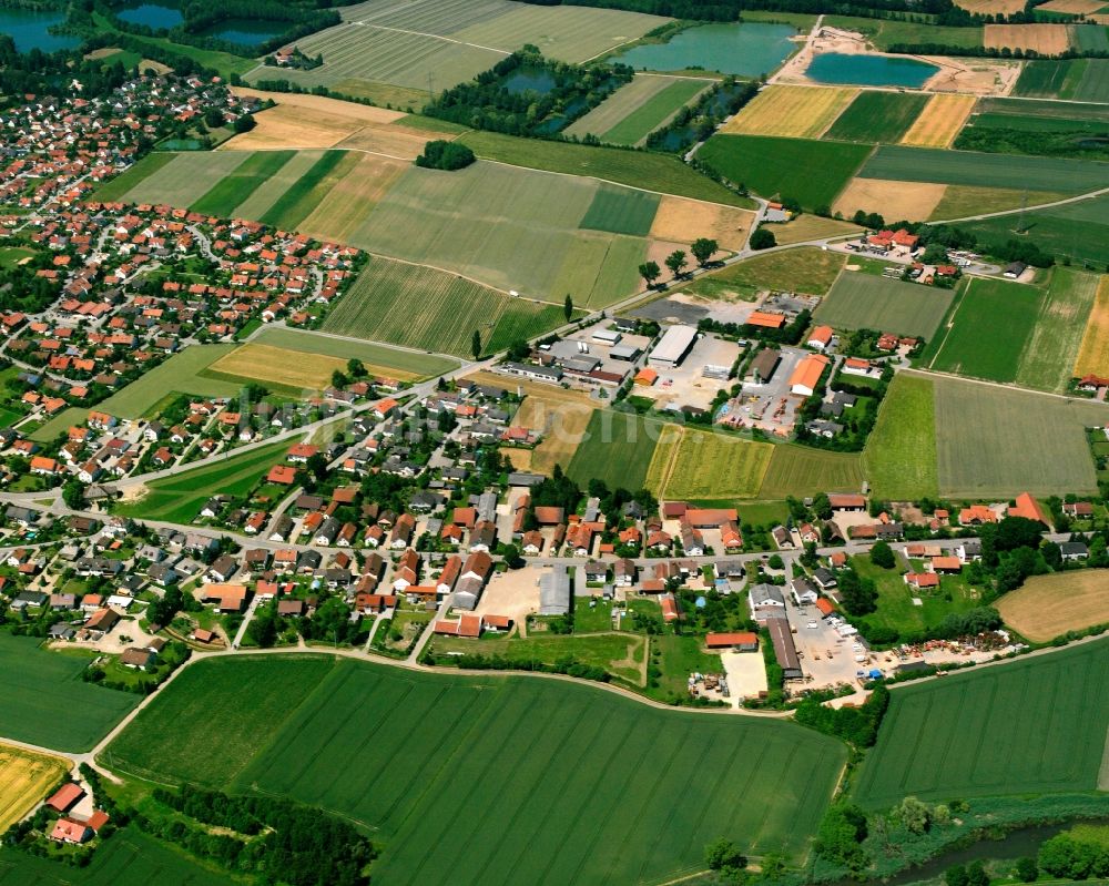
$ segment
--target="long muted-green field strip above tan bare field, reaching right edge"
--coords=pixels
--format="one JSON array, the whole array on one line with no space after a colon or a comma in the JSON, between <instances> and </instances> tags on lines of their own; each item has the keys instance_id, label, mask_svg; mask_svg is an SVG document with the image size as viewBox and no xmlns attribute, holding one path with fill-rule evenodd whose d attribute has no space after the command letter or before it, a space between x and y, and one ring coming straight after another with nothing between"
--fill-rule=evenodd
<instances>
[{"instance_id":1,"label":"long muted-green field strip above tan bare field, reaching right edge","mask_svg":"<svg viewBox=\"0 0 1109 886\"><path fill-rule=\"evenodd\" d=\"M864 179L1060 193L1082 193L1109 186L1109 163L888 144L879 146L858 174Z\"/></svg>"}]
</instances>

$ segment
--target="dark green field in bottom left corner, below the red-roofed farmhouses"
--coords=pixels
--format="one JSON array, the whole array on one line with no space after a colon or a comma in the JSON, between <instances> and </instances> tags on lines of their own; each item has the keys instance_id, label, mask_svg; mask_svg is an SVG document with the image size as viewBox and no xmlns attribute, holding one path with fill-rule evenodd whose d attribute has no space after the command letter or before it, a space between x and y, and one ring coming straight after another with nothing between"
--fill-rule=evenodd
<instances>
[{"instance_id":1,"label":"dark green field in bottom left corner, below the red-roofed farmhouses","mask_svg":"<svg viewBox=\"0 0 1109 886\"><path fill-rule=\"evenodd\" d=\"M177 848L126 827L96 848L88 867L0 848L0 886L226 886L223 872L202 867Z\"/></svg>"}]
</instances>

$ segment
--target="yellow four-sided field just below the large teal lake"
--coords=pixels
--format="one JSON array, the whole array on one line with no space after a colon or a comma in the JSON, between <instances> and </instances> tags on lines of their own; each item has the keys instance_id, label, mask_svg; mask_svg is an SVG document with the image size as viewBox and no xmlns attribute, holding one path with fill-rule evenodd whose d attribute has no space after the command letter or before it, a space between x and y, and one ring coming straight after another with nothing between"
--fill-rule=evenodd
<instances>
[{"instance_id":1,"label":"yellow four-sided field just below the large teal lake","mask_svg":"<svg viewBox=\"0 0 1109 886\"><path fill-rule=\"evenodd\" d=\"M818 139L858 94L846 86L766 86L723 132Z\"/></svg>"}]
</instances>

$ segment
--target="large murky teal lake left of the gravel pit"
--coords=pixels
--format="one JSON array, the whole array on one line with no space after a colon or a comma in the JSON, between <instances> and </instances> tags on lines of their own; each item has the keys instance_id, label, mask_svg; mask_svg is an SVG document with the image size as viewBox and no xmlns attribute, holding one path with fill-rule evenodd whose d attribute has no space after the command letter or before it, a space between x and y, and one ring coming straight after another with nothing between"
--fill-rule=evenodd
<instances>
[{"instance_id":1,"label":"large murky teal lake left of the gravel pit","mask_svg":"<svg viewBox=\"0 0 1109 886\"><path fill-rule=\"evenodd\" d=\"M719 22L699 24L676 33L665 43L633 47L612 61L637 70L682 71L703 68L722 74L759 77L774 71L796 49L788 24Z\"/></svg>"}]
</instances>

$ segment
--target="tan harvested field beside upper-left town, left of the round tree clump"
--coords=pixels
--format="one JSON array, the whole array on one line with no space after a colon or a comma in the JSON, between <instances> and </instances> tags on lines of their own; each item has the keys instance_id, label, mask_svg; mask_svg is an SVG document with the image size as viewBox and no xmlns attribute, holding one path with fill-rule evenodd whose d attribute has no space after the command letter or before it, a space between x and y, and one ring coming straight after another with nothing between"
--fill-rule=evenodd
<instances>
[{"instance_id":1,"label":"tan harvested field beside upper-left town, left of the round tree clump","mask_svg":"<svg viewBox=\"0 0 1109 886\"><path fill-rule=\"evenodd\" d=\"M334 147L367 126L388 128L406 116L400 111L323 95L262 92L238 86L233 91L236 95L272 99L277 105L255 114L257 125L250 132L228 139L221 145L223 150ZM425 141L430 138L434 136L425 134Z\"/></svg>"}]
</instances>

